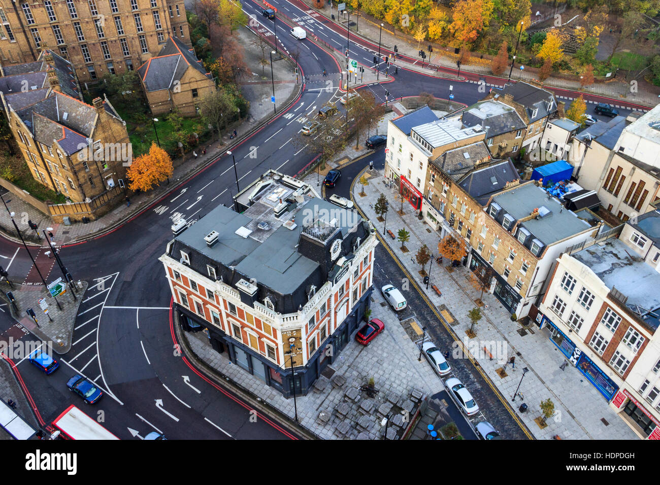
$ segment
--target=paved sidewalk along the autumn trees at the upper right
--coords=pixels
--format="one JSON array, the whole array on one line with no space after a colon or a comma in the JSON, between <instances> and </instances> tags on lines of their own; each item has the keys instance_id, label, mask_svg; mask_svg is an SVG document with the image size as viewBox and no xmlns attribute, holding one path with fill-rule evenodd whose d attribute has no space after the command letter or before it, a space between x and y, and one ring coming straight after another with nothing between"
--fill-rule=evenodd
<instances>
[{"instance_id":1,"label":"paved sidewalk along the autumn trees at the upper right","mask_svg":"<svg viewBox=\"0 0 660 485\"><path fill-rule=\"evenodd\" d=\"M309 0L303 0L303 1L309 6L310 3ZM310 7L310 9L312 9L312 7ZM331 18L329 5L325 5L322 9L314 8L313 10L322 13L327 18ZM344 18L344 16L337 17L337 5L333 5L332 10L336 19L335 23L338 24L341 23L341 26L343 28L346 28L346 18ZM339 20L339 22L337 20ZM350 20L351 36L355 35L355 28L356 28L356 22L354 16L352 16ZM399 32L399 35L400 34L401 33ZM360 20L358 21L357 35L366 38L369 42L378 44L378 38L380 35L380 23L370 21L368 17L360 16ZM413 57L414 59L419 59L419 55L418 55L419 50L426 49L426 46L429 44L429 42L428 41L422 42L419 48L417 47L417 44L418 43L414 41L409 43L405 38L401 36L395 36L393 32L390 32L387 28L382 29L381 46L383 46L386 49L393 50L394 46L396 45L397 48L399 49L400 54ZM406 67L407 69L412 69L413 71L422 72L427 75L428 74L436 75L435 67L438 66L447 67L449 69L456 69L455 59L447 57L446 55L442 55L443 53L445 53L445 51L443 51L440 48L437 48L437 50L431 53L430 58L428 57L426 58L426 61L430 61L434 66L433 69L428 69L426 67L422 68L420 65L421 59L417 61L417 63L415 64L402 62L402 61L396 62L396 64ZM426 55L428 56L428 51L426 52ZM424 65L426 65L426 61ZM518 64L516 64L514 67L514 72L512 73L513 81L529 81L535 78L535 75L533 73L530 73L529 71L521 71L519 67L520 66ZM490 63L488 63L488 65L475 65L475 64L461 65L461 72L469 72L477 75L488 75L490 77L494 77L492 71L490 70ZM506 71L506 74L508 75L508 71ZM447 73L440 73L440 71L438 71L437 75L438 77L449 77L449 78L451 78L452 76ZM453 79L455 79L455 76L453 77ZM506 78L502 78L501 84L504 84L504 82L506 82ZM647 83L644 83L644 88L640 90L640 92L636 92L636 93L630 92L629 82L623 82L617 80L607 83L597 83L597 84L593 84L592 86L588 86L587 88L582 88L579 85L579 81L577 80L570 81L567 79L558 79L556 77L549 77L548 79L546 79L544 84L545 86L548 87L581 91L588 94L597 94L600 96L625 100L627 102L638 103L649 107L653 107L656 104L658 104L658 102L660 102L660 98L659 98L660 86L651 86ZM642 83L640 83L640 87L642 87Z\"/></svg>"}]
</instances>

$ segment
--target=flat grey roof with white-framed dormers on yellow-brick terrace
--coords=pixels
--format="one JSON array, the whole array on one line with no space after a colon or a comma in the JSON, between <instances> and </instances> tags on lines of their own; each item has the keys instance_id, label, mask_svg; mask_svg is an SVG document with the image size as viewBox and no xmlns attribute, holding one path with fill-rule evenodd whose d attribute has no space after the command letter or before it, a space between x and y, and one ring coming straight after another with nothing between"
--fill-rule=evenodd
<instances>
[{"instance_id":1,"label":"flat grey roof with white-framed dormers on yellow-brick terrace","mask_svg":"<svg viewBox=\"0 0 660 485\"><path fill-rule=\"evenodd\" d=\"M552 214L544 218L530 219L520 224L545 245L574 236L591 227L587 222L578 218L574 212L564 209L557 199L554 197L548 199L548 197L546 191L541 187L537 187L533 183L526 183L496 195L493 201L511 214L515 220L529 216L537 207L545 206L551 210Z\"/></svg>"}]
</instances>

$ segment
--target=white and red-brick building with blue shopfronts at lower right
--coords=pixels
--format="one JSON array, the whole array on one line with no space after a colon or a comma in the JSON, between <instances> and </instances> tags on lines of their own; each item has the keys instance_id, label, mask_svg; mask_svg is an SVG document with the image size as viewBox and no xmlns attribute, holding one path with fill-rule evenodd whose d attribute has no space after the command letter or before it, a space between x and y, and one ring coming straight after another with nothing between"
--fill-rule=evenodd
<instances>
[{"instance_id":1,"label":"white and red-brick building with blue shopfronts at lower right","mask_svg":"<svg viewBox=\"0 0 660 485\"><path fill-rule=\"evenodd\" d=\"M660 439L660 267L649 240L660 241L657 212L619 239L569 249L537 319L638 436Z\"/></svg>"}]
</instances>

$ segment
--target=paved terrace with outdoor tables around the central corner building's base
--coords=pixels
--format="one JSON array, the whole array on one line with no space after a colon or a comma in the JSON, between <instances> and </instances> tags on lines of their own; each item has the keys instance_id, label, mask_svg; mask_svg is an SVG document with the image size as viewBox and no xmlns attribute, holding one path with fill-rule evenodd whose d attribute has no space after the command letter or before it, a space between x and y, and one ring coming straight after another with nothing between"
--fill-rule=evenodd
<instances>
[{"instance_id":1,"label":"paved terrace with outdoor tables around the central corner building's base","mask_svg":"<svg viewBox=\"0 0 660 485\"><path fill-rule=\"evenodd\" d=\"M339 358L329 366L335 370L332 377L336 375L345 377L346 382L343 386L337 387L327 377L321 376L317 379L317 383L319 386L325 383L323 391L312 390L308 395L298 396L296 399L300 424L323 439L380 439L384 429L380 426L382 416L378 415L379 409L388 408L387 403L392 404L390 401L408 405L406 401L409 400L413 389L418 389L426 396L444 389L442 381L426 360L418 362L418 347L409 339L399 319L389 309L380 292L374 291L371 298L374 311L372 317L381 319L385 323L383 334L366 347L351 339L339 354ZM209 366L248 389L265 403L291 418L294 417L293 399L284 399L281 393L267 386L259 377L250 375L236 364L232 364L226 354L218 354L211 348L205 333L184 333L184 335L195 354ZM367 397L366 393L355 392L360 385L367 384L370 377L374 377L374 387L380 391L375 398ZM356 394L356 399L347 399L345 396L347 391L351 390L354 390L352 392ZM344 403L347 405L340 407ZM360 410L363 403L364 406L371 404L371 410ZM393 404L388 409L398 411L399 407L401 406ZM321 413L324 413L323 416ZM363 416L366 416L364 420L362 420ZM361 421L361 428L356 426L358 421ZM345 434L337 432L337 426L343 422L347 422L345 426L350 428ZM405 424L401 423L399 432L403 428ZM390 425L389 430L393 429L396 430L396 427ZM364 431L364 434L358 437L361 431Z\"/></svg>"}]
</instances>

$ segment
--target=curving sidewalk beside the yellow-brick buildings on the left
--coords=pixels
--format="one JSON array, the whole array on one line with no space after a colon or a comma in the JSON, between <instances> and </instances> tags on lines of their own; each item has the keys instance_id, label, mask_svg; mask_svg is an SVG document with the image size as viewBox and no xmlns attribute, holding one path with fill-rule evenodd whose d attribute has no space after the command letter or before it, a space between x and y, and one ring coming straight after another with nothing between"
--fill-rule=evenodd
<instances>
[{"instance_id":1,"label":"curving sidewalk beside the yellow-brick buildings on the left","mask_svg":"<svg viewBox=\"0 0 660 485\"><path fill-rule=\"evenodd\" d=\"M239 35L241 42L246 46L251 44L256 38L255 34L247 28L239 29ZM252 48L256 49L255 46L252 46ZM246 48L246 52L249 51L250 50ZM260 53L261 49L259 49L259 54ZM260 55L258 57L260 57ZM270 71L270 67L268 67L268 71ZM278 100L278 113L280 113L283 106L286 106L296 98L299 90L302 88L302 84L296 84L294 63L284 58L280 59L278 57L278 60L273 58L273 75L277 82L277 84L275 84L275 94L276 100ZM108 214L97 220L91 221L88 224L77 222L71 224L71 226L65 226L64 224L55 224L48 215L35 207L32 207L32 205L26 203L19 197L16 197L16 195L13 195L12 193L4 195L6 191L0 187L0 190L3 192L3 197L5 197L5 201L7 201L7 207L9 207L9 210L16 213L16 224L22 232L23 237L26 238L26 242L38 244L34 231L30 230L28 226L28 220L36 222L40 231L51 226L53 228L53 234L55 235L55 241L59 245L81 242L103 234L107 230L119 226L129 218L135 216L138 212L162 197L172 189L172 187L176 186L178 182L189 178L195 174L195 172L226 152L226 150L232 150L232 146L241 143L245 137L249 135L250 131L257 129L257 127L263 125L273 117L273 104L270 100L270 97L272 96L270 72L267 72L267 81L260 79L258 76L253 77L255 79L244 81L245 84L242 86L244 88L246 99L250 102L250 107L247 119L236 127L238 139L229 139L231 129L233 129L233 127L230 127L227 134L222 137L222 143L220 143L220 141L207 141L204 145L197 146L197 148L195 148L195 151L198 154L197 158L195 158L193 153L190 152L185 154L183 159L178 158L173 160L175 168L172 177L170 177L171 182L169 184L162 183L159 187L156 187L147 193L132 195L130 197L130 207L127 207L125 203L122 203L108 212ZM201 154L203 148L207 149L205 155ZM9 213L1 206L0 232L2 232L3 236L6 238L20 243Z\"/></svg>"}]
</instances>

